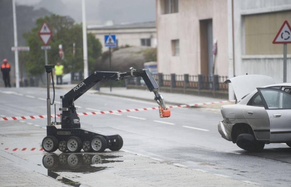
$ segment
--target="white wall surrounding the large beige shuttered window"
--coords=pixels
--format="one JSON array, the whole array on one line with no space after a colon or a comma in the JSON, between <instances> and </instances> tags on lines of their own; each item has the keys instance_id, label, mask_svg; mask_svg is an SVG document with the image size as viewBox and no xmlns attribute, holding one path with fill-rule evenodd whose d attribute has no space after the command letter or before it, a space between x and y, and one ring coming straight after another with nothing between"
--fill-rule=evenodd
<instances>
[{"instance_id":1,"label":"white wall surrounding the large beige shuttered window","mask_svg":"<svg viewBox=\"0 0 291 187\"><path fill-rule=\"evenodd\" d=\"M234 0L234 46L235 75L261 74L274 78L276 83L283 82L283 44L282 55L244 55L244 15L291 10L290 0ZM283 20L282 20L283 23ZM278 28L279 30L279 28ZM275 37L275 35L274 35ZM272 42L272 41L270 41ZM275 45L275 44L274 44ZM291 45L288 44L288 48ZM291 56L287 56L287 68L291 68ZM287 82L291 82L287 71Z\"/></svg>"}]
</instances>

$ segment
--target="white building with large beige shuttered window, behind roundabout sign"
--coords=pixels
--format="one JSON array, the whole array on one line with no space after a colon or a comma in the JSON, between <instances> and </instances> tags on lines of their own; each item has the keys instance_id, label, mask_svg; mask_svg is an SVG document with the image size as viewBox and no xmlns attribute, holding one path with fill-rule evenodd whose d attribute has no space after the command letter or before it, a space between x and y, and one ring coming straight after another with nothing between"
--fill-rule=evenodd
<instances>
[{"instance_id":1,"label":"white building with large beige shuttered window, behind roundabout sign","mask_svg":"<svg viewBox=\"0 0 291 187\"><path fill-rule=\"evenodd\" d=\"M234 0L235 75L260 74L283 82L283 44L272 44L283 21L291 24L290 0ZM291 82L291 45L287 44L287 82Z\"/></svg>"}]
</instances>

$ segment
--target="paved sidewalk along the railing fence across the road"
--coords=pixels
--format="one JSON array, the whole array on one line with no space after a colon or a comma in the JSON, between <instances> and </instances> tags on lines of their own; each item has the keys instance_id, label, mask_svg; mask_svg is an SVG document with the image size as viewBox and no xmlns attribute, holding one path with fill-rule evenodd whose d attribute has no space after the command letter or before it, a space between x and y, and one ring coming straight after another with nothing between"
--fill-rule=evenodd
<instances>
[{"instance_id":1,"label":"paved sidewalk along the railing fence across the road","mask_svg":"<svg viewBox=\"0 0 291 187\"><path fill-rule=\"evenodd\" d=\"M74 84L69 84L69 85L57 85L55 87L57 89L72 89L74 86L75 86ZM125 98L155 102L154 94L148 91L148 89L141 90L141 89L126 89L125 87L113 87L112 91L110 92L109 87L101 87L100 91L94 90L92 88L88 91L88 93L111 95L111 96L118 96L118 97L125 97ZM196 96L196 95L189 95L189 94L175 94L175 93L168 93L168 92L159 92L159 93L164 97L166 105L207 103L207 102L225 100L225 99L219 99L219 98L214 98L214 97ZM227 105L227 104L234 104L234 102L204 105L203 107L220 108L221 105Z\"/></svg>"}]
</instances>

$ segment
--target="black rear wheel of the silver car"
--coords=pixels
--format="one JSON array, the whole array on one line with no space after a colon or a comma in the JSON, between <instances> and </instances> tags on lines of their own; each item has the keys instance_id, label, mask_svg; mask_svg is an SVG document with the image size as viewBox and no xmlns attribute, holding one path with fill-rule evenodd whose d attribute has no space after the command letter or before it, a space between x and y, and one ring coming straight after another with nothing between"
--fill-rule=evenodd
<instances>
[{"instance_id":1,"label":"black rear wheel of the silver car","mask_svg":"<svg viewBox=\"0 0 291 187\"><path fill-rule=\"evenodd\" d=\"M246 151L262 151L265 147L265 143L258 142L253 134L239 134L237 136L237 146Z\"/></svg>"}]
</instances>

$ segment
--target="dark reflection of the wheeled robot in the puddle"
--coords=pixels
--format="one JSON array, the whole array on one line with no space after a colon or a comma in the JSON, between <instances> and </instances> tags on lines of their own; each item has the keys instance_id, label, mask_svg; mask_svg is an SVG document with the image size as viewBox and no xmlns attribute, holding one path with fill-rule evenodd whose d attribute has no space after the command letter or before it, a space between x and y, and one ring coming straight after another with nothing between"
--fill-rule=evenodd
<instances>
[{"instance_id":1,"label":"dark reflection of the wheeled robot in the puddle","mask_svg":"<svg viewBox=\"0 0 291 187\"><path fill-rule=\"evenodd\" d=\"M91 166L92 164L104 164L111 162L123 162L120 160L111 160L121 156L102 155L94 153L62 153L47 154L42 157L42 164L47 168L47 175L64 184L70 186L81 187L79 182L72 181L65 177L61 177L55 172L78 172L92 173L106 169L106 166ZM110 159L110 160L107 160Z\"/></svg>"}]
</instances>

